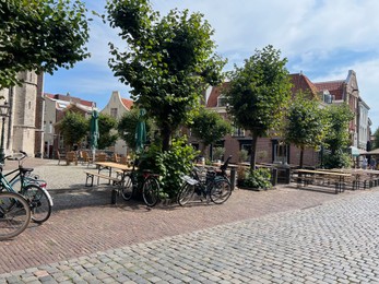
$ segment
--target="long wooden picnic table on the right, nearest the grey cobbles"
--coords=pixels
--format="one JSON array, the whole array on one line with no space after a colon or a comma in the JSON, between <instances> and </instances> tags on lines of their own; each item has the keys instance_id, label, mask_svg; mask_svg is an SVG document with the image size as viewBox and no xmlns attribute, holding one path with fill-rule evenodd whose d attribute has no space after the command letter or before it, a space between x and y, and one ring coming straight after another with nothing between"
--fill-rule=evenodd
<instances>
[{"instance_id":1,"label":"long wooden picnic table on the right, nearest the grey cobbles","mask_svg":"<svg viewBox=\"0 0 379 284\"><path fill-rule=\"evenodd\" d=\"M337 182L335 185L335 193L342 192L344 189L344 182L346 177L352 177L352 174L348 173L336 173L336 171L327 171L327 170L312 170L312 169L297 169L296 173L299 175L297 179L298 186L304 182L304 186L307 186L308 182L320 178L321 181L324 181L325 178L335 178ZM300 177L301 176L301 177ZM324 186L320 184L319 186Z\"/></svg>"}]
</instances>

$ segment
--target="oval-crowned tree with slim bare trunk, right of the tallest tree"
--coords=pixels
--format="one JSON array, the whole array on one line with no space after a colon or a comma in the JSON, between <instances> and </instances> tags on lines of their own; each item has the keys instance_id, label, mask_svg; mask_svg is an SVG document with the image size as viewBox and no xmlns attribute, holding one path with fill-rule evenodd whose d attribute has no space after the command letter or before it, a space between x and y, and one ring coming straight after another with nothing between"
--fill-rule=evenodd
<instances>
[{"instance_id":1,"label":"oval-crowned tree with slim bare trunk, right of the tallest tree","mask_svg":"<svg viewBox=\"0 0 379 284\"><path fill-rule=\"evenodd\" d=\"M251 132L251 170L256 168L256 146L259 137L268 134L282 121L284 107L291 97L291 81L286 59L272 46L256 50L242 68L230 72L225 90L228 111L235 123Z\"/></svg>"}]
</instances>

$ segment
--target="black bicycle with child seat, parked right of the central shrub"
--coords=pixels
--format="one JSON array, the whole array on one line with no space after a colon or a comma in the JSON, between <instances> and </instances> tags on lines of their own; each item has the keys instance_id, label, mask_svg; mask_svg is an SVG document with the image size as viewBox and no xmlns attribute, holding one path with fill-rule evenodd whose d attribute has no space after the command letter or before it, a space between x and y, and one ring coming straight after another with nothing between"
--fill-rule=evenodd
<instances>
[{"instance_id":1,"label":"black bicycle with child seat, parked right of the central shrub","mask_svg":"<svg viewBox=\"0 0 379 284\"><path fill-rule=\"evenodd\" d=\"M194 197L205 198L206 203L212 201L222 204L232 194L232 185L226 175L226 169L232 156L229 156L218 170L206 169L201 166L193 166L190 176L183 176L185 181L179 190L177 201L183 206Z\"/></svg>"}]
</instances>

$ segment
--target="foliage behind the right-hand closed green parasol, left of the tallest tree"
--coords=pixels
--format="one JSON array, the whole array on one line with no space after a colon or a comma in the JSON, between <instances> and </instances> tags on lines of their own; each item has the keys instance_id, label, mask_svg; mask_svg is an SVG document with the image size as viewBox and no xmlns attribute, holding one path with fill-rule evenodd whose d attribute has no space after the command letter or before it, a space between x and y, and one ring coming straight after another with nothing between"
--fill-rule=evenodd
<instances>
[{"instance_id":1,"label":"foliage behind the right-hand closed green parasol, left of the tallest tree","mask_svg":"<svg viewBox=\"0 0 379 284\"><path fill-rule=\"evenodd\" d=\"M118 134L122 138L131 150L135 150L135 128L139 122L139 108L132 108L130 111L127 111L120 119L117 126ZM151 119L146 119L146 137L151 137L151 132L154 129L153 121Z\"/></svg>"}]
</instances>

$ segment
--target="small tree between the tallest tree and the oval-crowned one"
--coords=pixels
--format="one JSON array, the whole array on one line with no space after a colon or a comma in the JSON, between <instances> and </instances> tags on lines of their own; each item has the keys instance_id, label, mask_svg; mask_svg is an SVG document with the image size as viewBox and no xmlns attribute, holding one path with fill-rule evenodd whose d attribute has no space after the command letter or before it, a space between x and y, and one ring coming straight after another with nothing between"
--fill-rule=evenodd
<instances>
[{"instance_id":1,"label":"small tree between the tallest tree and the oval-crowned one","mask_svg":"<svg viewBox=\"0 0 379 284\"><path fill-rule=\"evenodd\" d=\"M209 145L232 132L232 126L217 113L201 108L199 114L193 117L191 131L203 142L201 154L204 155Z\"/></svg>"}]
</instances>

